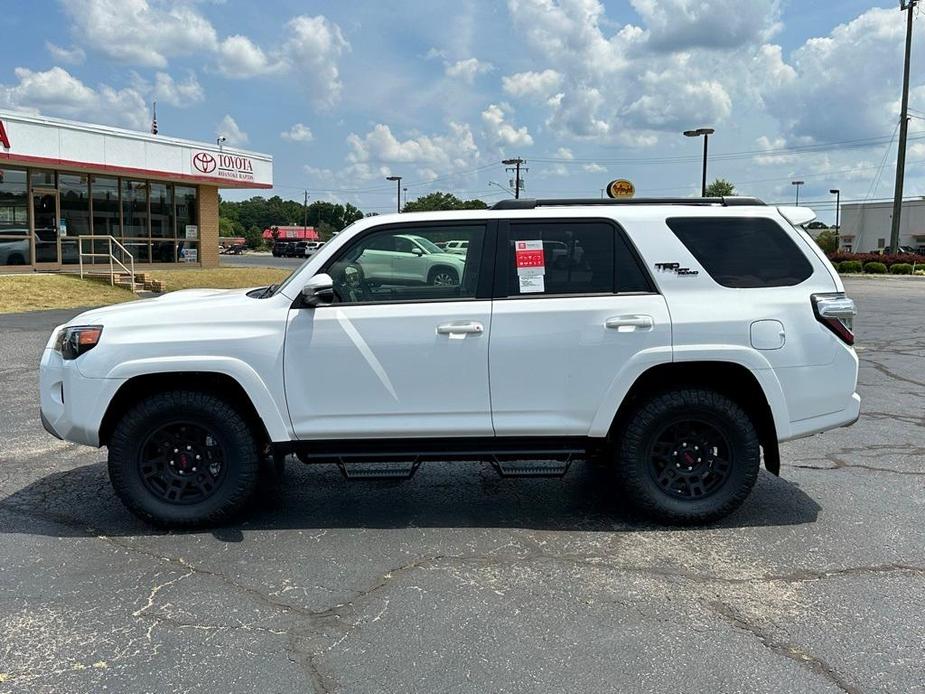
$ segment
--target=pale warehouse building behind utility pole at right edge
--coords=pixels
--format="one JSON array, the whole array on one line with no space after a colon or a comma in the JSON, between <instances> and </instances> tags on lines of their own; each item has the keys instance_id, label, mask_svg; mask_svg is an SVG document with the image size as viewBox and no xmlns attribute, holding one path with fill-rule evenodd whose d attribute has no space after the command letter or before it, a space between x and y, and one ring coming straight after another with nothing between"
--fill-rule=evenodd
<instances>
[{"instance_id":1,"label":"pale warehouse building behind utility pole at right edge","mask_svg":"<svg viewBox=\"0 0 925 694\"><path fill-rule=\"evenodd\" d=\"M888 248L892 226L892 202L845 203L841 211L839 248L848 253L871 253ZM925 252L925 198L903 201L899 245Z\"/></svg>"}]
</instances>

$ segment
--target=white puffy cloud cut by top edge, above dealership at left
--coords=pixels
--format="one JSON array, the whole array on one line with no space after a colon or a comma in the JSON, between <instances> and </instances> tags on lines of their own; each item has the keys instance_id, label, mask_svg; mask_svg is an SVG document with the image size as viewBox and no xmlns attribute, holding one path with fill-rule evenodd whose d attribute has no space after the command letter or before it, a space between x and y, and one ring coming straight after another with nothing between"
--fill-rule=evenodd
<instances>
[{"instance_id":1,"label":"white puffy cloud cut by top edge, above dealership at left","mask_svg":"<svg viewBox=\"0 0 925 694\"><path fill-rule=\"evenodd\" d=\"M212 24L186 4L69 0L62 7L84 45L120 62L164 68L172 57L217 46Z\"/></svg>"}]
</instances>

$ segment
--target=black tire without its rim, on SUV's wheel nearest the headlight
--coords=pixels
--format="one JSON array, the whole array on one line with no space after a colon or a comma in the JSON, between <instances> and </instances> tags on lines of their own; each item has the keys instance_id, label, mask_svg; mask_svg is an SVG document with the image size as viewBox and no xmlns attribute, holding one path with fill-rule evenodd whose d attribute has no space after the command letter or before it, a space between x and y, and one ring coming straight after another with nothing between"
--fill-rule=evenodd
<instances>
[{"instance_id":1,"label":"black tire without its rim, on SUV's wheel nearest the headlight","mask_svg":"<svg viewBox=\"0 0 925 694\"><path fill-rule=\"evenodd\" d=\"M178 419L212 432L226 466L218 488L196 503L159 499L145 486L140 471L145 440ZM218 525L232 519L252 497L260 473L258 448L248 423L225 400L195 391L158 393L137 402L116 424L109 440L109 479L128 509L148 523L169 528Z\"/></svg>"}]
</instances>

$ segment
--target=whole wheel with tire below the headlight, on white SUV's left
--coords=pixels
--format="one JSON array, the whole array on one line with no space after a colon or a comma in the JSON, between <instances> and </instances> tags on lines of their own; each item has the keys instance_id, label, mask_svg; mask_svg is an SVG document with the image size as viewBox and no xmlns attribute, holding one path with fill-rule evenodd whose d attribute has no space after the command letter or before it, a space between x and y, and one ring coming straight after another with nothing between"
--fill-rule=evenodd
<instances>
[{"instance_id":1,"label":"whole wheel with tire below the headlight, on white SUV's left","mask_svg":"<svg viewBox=\"0 0 925 694\"><path fill-rule=\"evenodd\" d=\"M160 526L229 520L250 499L259 470L247 422L207 393L147 397L125 414L109 441L116 494L135 515Z\"/></svg>"}]
</instances>

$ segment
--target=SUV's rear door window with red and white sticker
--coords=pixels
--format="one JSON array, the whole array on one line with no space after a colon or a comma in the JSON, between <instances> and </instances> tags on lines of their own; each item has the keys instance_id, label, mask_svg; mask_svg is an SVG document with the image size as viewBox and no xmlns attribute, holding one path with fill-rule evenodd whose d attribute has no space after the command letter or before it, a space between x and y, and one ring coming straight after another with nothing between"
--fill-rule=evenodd
<instances>
[{"instance_id":1,"label":"SUV's rear door window with red and white sticker","mask_svg":"<svg viewBox=\"0 0 925 694\"><path fill-rule=\"evenodd\" d=\"M511 222L508 296L650 291L636 257L603 221Z\"/></svg>"}]
</instances>

